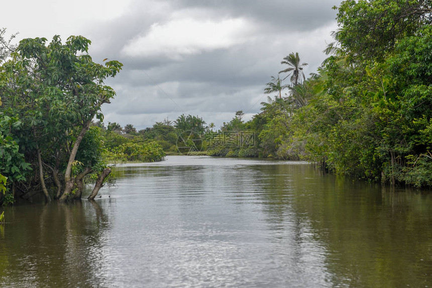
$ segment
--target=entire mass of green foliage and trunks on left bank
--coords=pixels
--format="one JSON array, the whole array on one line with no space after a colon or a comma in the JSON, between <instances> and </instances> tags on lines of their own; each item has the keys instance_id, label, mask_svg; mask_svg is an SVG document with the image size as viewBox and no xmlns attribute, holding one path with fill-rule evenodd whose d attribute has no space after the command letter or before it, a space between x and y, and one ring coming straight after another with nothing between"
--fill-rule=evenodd
<instances>
[{"instance_id":1,"label":"entire mass of green foliage and trunks on left bank","mask_svg":"<svg viewBox=\"0 0 432 288\"><path fill-rule=\"evenodd\" d=\"M50 43L35 38L17 47L2 44L8 57L0 66L0 172L8 181L1 201L35 191L47 201L80 198L84 177L109 170L101 161L100 132L89 128L94 117L102 118L100 106L115 96L104 79L122 64L93 62L90 41L81 36L64 44L59 36Z\"/></svg>"}]
</instances>

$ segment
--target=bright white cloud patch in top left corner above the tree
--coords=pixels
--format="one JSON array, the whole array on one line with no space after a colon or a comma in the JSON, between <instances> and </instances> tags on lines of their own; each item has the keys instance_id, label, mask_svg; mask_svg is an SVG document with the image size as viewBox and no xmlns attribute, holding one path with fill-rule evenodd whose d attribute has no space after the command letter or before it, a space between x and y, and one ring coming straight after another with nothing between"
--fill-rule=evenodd
<instances>
[{"instance_id":1,"label":"bright white cloud patch in top left corner above the tree","mask_svg":"<svg viewBox=\"0 0 432 288\"><path fill-rule=\"evenodd\" d=\"M60 35L89 37L89 29L101 22L116 21L128 13L133 0L75 0L65 1L2 1L2 26L19 38ZM5 26L3 26L5 25ZM6 26L7 25L7 26Z\"/></svg>"}]
</instances>

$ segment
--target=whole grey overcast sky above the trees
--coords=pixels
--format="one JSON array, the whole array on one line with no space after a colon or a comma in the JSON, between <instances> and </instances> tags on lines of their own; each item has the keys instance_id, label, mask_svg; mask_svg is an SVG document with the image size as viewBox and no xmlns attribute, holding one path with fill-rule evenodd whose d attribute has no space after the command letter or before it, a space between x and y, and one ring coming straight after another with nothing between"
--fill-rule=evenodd
<instances>
[{"instance_id":1,"label":"whole grey overcast sky above the trees","mask_svg":"<svg viewBox=\"0 0 432 288\"><path fill-rule=\"evenodd\" d=\"M90 55L125 66L106 83L117 97L105 124L138 129L180 114L220 127L259 112L265 84L298 52L315 72L337 29L338 0L75 0L2 3L0 27L18 39L56 34L92 41ZM288 80L288 79L287 79ZM288 83L286 83L288 84Z\"/></svg>"}]
</instances>

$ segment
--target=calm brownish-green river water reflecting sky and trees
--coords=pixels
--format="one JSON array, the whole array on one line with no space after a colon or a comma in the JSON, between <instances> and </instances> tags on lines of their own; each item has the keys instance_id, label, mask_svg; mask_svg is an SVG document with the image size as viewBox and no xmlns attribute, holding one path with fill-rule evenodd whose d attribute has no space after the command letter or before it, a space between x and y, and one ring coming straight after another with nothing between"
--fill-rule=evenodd
<instances>
[{"instance_id":1,"label":"calm brownish-green river water reflecting sky and trees","mask_svg":"<svg viewBox=\"0 0 432 288\"><path fill-rule=\"evenodd\" d=\"M113 173L93 202L5 208L0 286L432 286L427 191L252 159Z\"/></svg>"}]
</instances>

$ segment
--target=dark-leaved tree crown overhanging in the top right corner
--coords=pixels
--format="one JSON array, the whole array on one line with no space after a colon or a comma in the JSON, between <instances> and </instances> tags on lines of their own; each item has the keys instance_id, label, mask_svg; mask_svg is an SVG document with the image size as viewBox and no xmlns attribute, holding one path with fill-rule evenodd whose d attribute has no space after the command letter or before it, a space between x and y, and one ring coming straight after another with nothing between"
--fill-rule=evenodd
<instances>
[{"instance_id":1,"label":"dark-leaved tree crown overhanging in the top right corner","mask_svg":"<svg viewBox=\"0 0 432 288\"><path fill-rule=\"evenodd\" d=\"M382 61L398 40L432 23L430 0L343 1L338 10L341 48L356 61Z\"/></svg>"}]
</instances>

